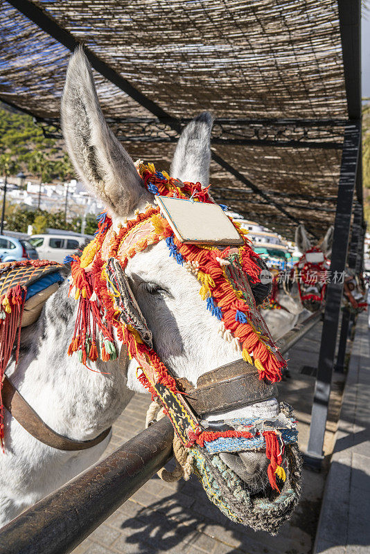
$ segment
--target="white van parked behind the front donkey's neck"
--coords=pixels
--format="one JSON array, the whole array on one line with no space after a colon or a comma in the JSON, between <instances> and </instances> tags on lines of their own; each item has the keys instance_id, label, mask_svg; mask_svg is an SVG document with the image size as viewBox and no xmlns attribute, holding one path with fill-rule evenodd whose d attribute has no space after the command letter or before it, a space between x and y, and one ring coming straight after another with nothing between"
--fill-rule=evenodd
<instances>
[{"instance_id":1,"label":"white van parked behind the front donkey's neck","mask_svg":"<svg viewBox=\"0 0 370 554\"><path fill-rule=\"evenodd\" d=\"M66 256L84 247L91 235L32 235L28 242L37 250L40 260L63 263Z\"/></svg>"}]
</instances>

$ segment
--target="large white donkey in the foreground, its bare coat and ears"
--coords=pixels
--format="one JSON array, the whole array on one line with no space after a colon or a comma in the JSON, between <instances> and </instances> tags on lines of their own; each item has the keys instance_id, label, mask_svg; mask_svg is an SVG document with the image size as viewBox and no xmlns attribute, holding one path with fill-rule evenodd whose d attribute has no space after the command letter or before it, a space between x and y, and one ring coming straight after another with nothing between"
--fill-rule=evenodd
<instances>
[{"instance_id":1,"label":"large white donkey in the foreground, its bare coat and ears","mask_svg":"<svg viewBox=\"0 0 370 554\"><path fill-rule=\"evenodd\" d=\"M62 124L78 175L103 200L117 229L125 217L153 201L132 159L107 127L82 51L69 63ZM209 183L211 125L211 116L204 113L184 129L173 159L174 177ZM197 279L168 258L164 241L134 256L125 271L152 330L156 350L175 375L186 377L195 386L206 371L240 358L240 352L218 334L217 319L204 309ZM118 361L96 361L91 364L96 373L82 366L76 355L67 355L78 306L67 297L68 287L67 282L61 285L46 302L39 320L22 331L19 363L15 368L12 361L6 373L51 429L68 438L88 440L114 423L134 391L144 391L136 379L134 360L125 376ZM108 436L80 452L53 449L30 436L5 412L0 525L95 463L109 443ZM278 413L278 402L270 399L223 413L222 418L270 418ZM220 418L220 414L212 418ZM247 488L268 465L265 452L229 454L224 461L233 465Z\"/></svg>"}]
</instances>

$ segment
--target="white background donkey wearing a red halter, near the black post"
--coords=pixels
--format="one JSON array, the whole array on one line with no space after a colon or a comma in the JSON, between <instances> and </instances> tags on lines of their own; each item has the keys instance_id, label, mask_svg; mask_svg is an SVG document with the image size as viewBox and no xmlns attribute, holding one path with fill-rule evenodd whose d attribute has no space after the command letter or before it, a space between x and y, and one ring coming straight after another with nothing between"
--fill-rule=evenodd
<instances>
[{"instance_id":1,"label":"white background donkey wearing a red halter, near the black post","mask_svg":"<svg viewBox=\"0 0 370 554\"><path fill-rule=\"evenodd\" d=\"M318 245L318 249L326 258L330 258L333 245L333 226L328 228L326 235ZM304 225L299 225L295 231L295 243L299 251L306 256L306 252L312 248L312 243ZM322 283L313 283L310 287L311 292L321 292ZM261 314L267 327L275 341L281 339L285 333L289 332L294 325L306 319L310 312L318 309L318 304L308 304L303 306L299 295L297 279L279 281L277 301L283 307L283 310L261 310Z\"/></svg>"}]
</instances>

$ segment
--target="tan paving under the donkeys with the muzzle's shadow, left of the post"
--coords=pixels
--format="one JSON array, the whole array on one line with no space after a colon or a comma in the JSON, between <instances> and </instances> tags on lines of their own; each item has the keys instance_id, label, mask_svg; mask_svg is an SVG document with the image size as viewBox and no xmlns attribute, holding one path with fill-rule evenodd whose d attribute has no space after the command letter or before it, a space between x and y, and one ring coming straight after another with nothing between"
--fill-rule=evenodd
<instances>
[{"instance_id":1,"label":"tan paving under the donkeys with the muzzle's shadow, left of the post","mask_svg":"<svg viewBox=\"0 0 370 554\"><path fill-rule=\"evenodd\" d=\"M314 377L301 375L304 364L317 363L321 324L290 352L292 378L279 386L281 399L296 406L300 447L308 439ZM106 454L144 427L150 399L136 394L114 425ZM335 418L334 418L335 419ZM326 433L333 445L334 422ZM335 430L335 429L334 429ZM206 498L195 477L164 483L153 477L98 527L73 554L308 554L312 551L325 473L303 470L303 494L292 520L276 537L232 523Z\"/></svg>"}]
</instances>

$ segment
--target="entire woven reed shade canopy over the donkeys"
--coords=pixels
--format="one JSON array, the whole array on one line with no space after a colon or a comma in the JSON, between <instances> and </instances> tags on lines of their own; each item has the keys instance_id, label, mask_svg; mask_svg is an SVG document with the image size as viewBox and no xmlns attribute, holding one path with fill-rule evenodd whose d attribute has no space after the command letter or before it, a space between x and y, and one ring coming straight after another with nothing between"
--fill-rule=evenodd
<instances>
[{"instance_id":1,"label":"entire woven reed shade canopy over the donkeys","mask_svg":"<svg viewBox=\"0 0 370 554\"><path fill-rule=\"evenodd\" d=\"M349 118L337 0L0 6L0 99L33 114L46 133L60 134L71 49L53 36L58 26L139 92L94 71L105 116L133 159L168 170L179 121L209 109L215 199L289 238L299 222L317 237L333 224ZM52 32L35 24L39 8Z\"/></svg>"}]
</instances>

